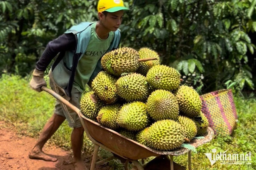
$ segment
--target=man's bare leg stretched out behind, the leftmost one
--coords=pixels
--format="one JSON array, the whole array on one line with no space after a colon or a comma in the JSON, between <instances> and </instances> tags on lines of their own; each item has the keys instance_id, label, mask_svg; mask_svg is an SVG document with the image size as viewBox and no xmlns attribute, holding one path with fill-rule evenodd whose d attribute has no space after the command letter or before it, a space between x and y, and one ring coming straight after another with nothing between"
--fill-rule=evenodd
<instances>
[{"instance_id":1,"label":"man's bare leg stretched out behind, the leftmost one","mask_svg":"<svg viewBox=\"0 0 256 170\"><path fill-rule=\"evenodd\" d=\"M30 159L42 159L44 161L57 161L57 158L47 155L42 151L44 144L47 140L58 130L60 125L66 118L57 114L53 114L48 122L44 125L44 128L35 144L33 149L29 152Z\"/></svg>"}]
</instances>

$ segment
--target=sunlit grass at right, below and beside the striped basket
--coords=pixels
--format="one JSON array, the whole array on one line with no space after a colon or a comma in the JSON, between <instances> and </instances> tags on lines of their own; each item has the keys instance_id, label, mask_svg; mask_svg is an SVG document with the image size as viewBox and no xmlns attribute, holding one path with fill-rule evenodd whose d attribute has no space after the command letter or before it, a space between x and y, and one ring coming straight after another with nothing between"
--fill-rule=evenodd
<instances>
[{"instance_id":1,"label":"sunlit grass at right, below and beside the striped basket","mask_svg":"<svg viewBox=\"0 0 256 170\"><path fill-rule=\"evenodd\" d=\"M197 153L192 153L192 167L195 170L200 170L204 167L205 170L255 170L256 169L256 99L241 99L234 98L236 110L239 116L237 128L232 136L216 136L211 142L197 148ZM209 160L204 153L212 153L212 149L216 149L216 153L224 152L227 154L249 153L252 154L251 165L221 165L216 162L211 166ZM186 165L187 157L175 157L175 161Z\"/></svg>"}]
</instances>

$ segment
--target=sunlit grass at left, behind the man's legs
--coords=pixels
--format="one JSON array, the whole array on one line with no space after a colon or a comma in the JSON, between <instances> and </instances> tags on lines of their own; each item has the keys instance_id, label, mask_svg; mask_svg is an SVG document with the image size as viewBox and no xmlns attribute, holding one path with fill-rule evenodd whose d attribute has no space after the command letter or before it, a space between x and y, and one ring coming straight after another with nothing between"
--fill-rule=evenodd
<instances>
[{"instance_id":1,"label":"sunlit grass at left, behind the man's legs","mask_svg":"<svg viewBox=\"0 0 256 170\"><path fill-rule=\"evenodd\" d=\"M28 77L30 79L30 77ZM37 138L54 112L55 99L49 94L29 88L29 80L19 76L2 75L0 79L0 120L15 125L19 133ZM64 122L49 140L70 148L71 129Z\"/></svg>"}]
</instances>

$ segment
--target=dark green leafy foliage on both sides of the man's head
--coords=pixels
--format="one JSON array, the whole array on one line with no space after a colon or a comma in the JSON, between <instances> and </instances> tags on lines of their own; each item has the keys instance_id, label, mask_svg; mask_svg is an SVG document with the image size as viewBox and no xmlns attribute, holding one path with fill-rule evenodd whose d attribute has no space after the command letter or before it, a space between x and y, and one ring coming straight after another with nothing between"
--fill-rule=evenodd
<instances>
[{"instance_id":1,"label":"dark green leafy foliage on both sides of the man's head","mask_svg":"<svg viewBox=\"0 0 256 170\"><path fill-rule=\"evenodd\" d=\"M244 65L255 69L247 56L247 51L254 54L256 49L247 34L256 31L255 3L256 0L128 0L125 4L130 11L125 12L120 27L121 43L136 49L154 49L162 64L173 65L186 79L196 75L191 85L201 80L198 87L204 85L208 91L223 88L228 80L232 81L230 88L251 88L254 86L250 80L255 80L250 76L243 78L244 83L233 82ZM50 40L72 25L98 20L96 6L96 1L82 0L0 0L0 71L15 72L10 64L14 61L18 65L16 72L26 74ZM37 58L32 63L28 59L20 62L15 60L19 54L19 59L29 55ZM252 69L247 72L252 73Z\"/></svg>"}]
</instances>

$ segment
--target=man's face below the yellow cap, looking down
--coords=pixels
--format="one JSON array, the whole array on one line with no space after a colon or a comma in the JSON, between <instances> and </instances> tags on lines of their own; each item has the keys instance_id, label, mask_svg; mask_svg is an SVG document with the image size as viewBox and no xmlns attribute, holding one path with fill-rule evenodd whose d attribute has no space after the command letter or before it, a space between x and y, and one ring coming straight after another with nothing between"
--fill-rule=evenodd
<instances>
[{"instance_id":1,"label":"man's face below the yellow cap, looking down","mask_svg":"<svg viewBox=\"0 0 256 170\"><path fill-rule=\"evenodd\" d=\"M105 28L107 28L110 31L116 31L122 23L123 14L124 14L123 10L116 11L116 12L109 12L107 16L102 14L102 17L100 17L100 20L103 26L105 26Z\"/></svg>"}]
</instances>

